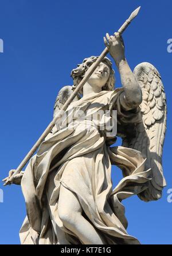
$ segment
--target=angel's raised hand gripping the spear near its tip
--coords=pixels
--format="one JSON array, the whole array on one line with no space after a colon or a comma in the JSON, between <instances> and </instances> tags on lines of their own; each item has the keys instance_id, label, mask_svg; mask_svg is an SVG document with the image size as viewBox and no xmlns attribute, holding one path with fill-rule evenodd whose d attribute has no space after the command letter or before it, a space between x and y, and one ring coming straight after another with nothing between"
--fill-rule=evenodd
<instances>
[{"instance_id":1,"label":"angel's raised hand gripping the spear near its tip","mask_svg":"<svg viewBox=\"0 0 172 256\"><path fill-rule=\"evenodd\" d=\"M115 32L114 36L110 36L106 33L106 37L104 37L104 44L110 51L110 54L116 63L125 59L123 39L118 32Z\"/></svg>"}]
</instances>

